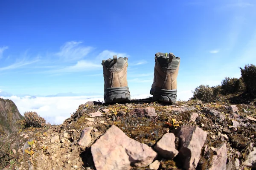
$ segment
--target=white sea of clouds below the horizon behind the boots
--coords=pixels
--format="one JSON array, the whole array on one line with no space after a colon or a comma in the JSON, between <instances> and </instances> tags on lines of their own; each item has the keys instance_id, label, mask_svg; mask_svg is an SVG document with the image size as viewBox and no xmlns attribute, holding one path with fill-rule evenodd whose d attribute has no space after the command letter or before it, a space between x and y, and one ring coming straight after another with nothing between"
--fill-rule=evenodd
<instances>
[{"instance_id":1,"label":"white sea of clouds below the horizon behind the boots","mask_svg":"<svg viewBox=\"0 0 256 170\"><path fill-rule=\"evenodd\" d=\"M151 95L137 94L132 99L143 99ZM177 94L177 100L188 100L192 96L191 91L181 91ZM35 111L52 125L60 125L65 119L76 112L79 105L87 101L102 102L103 96L1 96L3 99L12 100L20 114L25 111Z\"/></svg>"}]
</instances>

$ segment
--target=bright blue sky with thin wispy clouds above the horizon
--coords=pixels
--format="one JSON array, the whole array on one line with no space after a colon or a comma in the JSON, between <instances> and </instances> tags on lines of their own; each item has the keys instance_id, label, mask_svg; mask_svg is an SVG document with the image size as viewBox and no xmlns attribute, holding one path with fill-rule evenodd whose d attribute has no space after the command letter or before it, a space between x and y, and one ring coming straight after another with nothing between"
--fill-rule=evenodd
<instances>
[{"instance_id":1,"label":"bright blue sky with thin wispy clouds above the horizon","mask_svg":"<svg viewBox=\"0 0 256 170\"><path fill-rule=\"evenodd\" d=\"M181 58L178 98L256 64L254 0L0 1L0 89L102 95L102 59L128 57L132 95L149 95L154 54Z\"/></svg>"}]
</instances>

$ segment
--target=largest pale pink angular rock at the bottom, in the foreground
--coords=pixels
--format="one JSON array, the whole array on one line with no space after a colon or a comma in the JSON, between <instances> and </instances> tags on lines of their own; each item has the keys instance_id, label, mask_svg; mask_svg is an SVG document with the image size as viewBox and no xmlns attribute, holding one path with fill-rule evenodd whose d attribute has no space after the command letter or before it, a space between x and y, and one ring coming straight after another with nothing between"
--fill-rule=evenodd
<instances>
[{"instance_id":1,"label":"largest pale pink angular rock at the bottom, in the foreground","mask_svg":"<svg viewBox=\"0 0 256 170\"><path fill-rule=\"evenodd\" d=\"M129 138L115 125L91 146L91 153L97 170L129 170L131 164L146 167L157 156L151 147Z\"/></svg>"}]
</instances>

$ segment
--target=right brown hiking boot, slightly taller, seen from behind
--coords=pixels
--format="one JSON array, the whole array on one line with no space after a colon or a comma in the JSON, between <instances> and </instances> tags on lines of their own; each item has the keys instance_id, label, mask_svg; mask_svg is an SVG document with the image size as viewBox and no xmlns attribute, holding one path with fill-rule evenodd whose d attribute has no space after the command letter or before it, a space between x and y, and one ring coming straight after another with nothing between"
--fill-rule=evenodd
<instances>
[{"instance_id":1,"label":"right brown hiking boot, slightly taller, seen from behind","mask_svg":"<svg viewBox=\"0 0 256 170\"><path fill-rule=\"evenodd\" d=\"M179 67L180 57L175 57L173 53L155 54L154 82L150 90L154 101L176 102Z\"/></svg>"}]
</instances>

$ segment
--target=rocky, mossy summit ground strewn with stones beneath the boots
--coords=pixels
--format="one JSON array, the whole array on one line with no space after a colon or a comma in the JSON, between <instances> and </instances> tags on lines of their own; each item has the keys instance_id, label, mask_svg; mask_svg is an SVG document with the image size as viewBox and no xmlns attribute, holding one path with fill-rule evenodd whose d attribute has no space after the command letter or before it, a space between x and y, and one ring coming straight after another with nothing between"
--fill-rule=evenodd
<instances>
[{"instance_id":1,"label":"rocky, mossy summit ground strewn with stones beneath the boots","mask_svg":"<svg viewBox=\"0 0 256 170\"><path fill-rule=\"evenodd\" d=\"M253 170L256 106L87 102L61 125L4 140L6 170Z\"/></svg>"}]
</instances>

